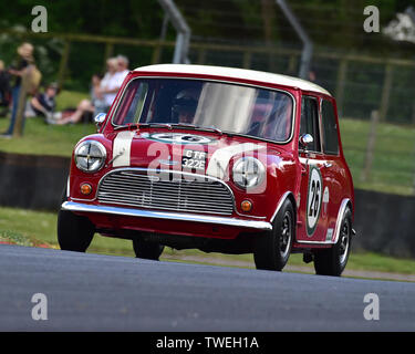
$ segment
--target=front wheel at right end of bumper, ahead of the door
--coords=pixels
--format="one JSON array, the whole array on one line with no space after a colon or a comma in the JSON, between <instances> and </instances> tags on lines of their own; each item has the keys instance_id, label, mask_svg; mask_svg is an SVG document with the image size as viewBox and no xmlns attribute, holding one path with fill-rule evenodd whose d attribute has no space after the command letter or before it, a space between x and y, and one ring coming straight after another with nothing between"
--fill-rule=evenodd
<instances>
[{"instance_id":1,"label":"front wheel at right end of bumper, ahead of the door","mask_svg":"<svg viewBox=\"0 0 415 354\"><path fill-rule=\"evenodd\" d=\"M257 269L281 271L288 262L294 238L294 208L286 200L278 212L272 231L256 241L253 260Z\"/></svg>"}]
</instances>

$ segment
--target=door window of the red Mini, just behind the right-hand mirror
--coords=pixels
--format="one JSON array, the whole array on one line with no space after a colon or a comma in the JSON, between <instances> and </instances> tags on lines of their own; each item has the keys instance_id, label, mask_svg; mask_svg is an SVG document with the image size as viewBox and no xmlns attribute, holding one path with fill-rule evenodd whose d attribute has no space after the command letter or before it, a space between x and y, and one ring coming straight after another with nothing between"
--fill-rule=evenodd
<instances>
[{"instance_id":1,"label":"door window of the red Mini, just behind the right-hand mirror","mask_svg":"<svg viewBox=\"0 0 415 354\"><path fill-rule=\"evenodd\" d=\"M300 136L311 134L314 142L308 146L310 152L321 152L319 131L319 105L312 97L303 96L301 101Z\"/></svg>"}]
</instances>

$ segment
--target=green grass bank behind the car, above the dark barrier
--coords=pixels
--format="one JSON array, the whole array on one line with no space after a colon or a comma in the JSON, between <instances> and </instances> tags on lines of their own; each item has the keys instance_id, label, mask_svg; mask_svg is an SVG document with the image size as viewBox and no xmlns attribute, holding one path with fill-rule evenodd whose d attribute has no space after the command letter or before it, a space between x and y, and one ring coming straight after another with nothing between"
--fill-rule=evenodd
<instances>
[{"instance_id":1,"label":"green grass bank behind the car, above the dark barrier","mask_svg":"<svg viewBox=\"0 0 415 354\"><path fill-rule=\"evenodd\" d=\"M75 107L86 93L63 91L58 97L58 111ZM0 132L8 127L0 118ZM398 195L413 195L415 185L415 127L380 124L376 133L375 156L370 178L361 180L365 160L370 122L342 118L340 121L343 150L356 188ZM0 150L20 154L71 156L82 136L93 134L93 124L51 126L41 118L27 121L22 138L0 139Z\"/></svg>"}]
</instances>

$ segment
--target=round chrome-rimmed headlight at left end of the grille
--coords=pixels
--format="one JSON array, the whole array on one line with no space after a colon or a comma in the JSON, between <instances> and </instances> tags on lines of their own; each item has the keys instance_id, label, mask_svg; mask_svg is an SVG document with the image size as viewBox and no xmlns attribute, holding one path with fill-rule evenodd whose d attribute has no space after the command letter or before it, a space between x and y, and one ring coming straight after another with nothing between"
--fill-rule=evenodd
<instances>
[{"instance_id":1,"label":"round chrome-rimmed headlight at left end of the grille","mask_svg":"<svg viewBox=\"0 0 415 354\"><path fill-rule=\"evenodd\" d=\"M84 173L96 173L106 160L104 145L95 140L82 142L75 149L76 167Z\"/></svg>"}]
</instances>

